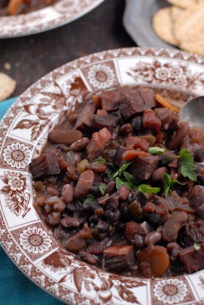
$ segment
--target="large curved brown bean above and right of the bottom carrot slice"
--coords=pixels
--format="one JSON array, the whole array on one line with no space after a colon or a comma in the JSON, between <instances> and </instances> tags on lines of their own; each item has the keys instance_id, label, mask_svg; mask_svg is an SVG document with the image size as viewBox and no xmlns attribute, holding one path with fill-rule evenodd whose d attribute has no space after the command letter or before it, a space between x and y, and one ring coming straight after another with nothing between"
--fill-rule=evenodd
<instances>
[{"instance_id":1,"label":"large curved brown bean above and right of the bottom carrot slice","mask_svg":"<svg viewBox=\"0 0 204 305\"><path fill-rule=\"evenodd\" d=\"M176 241L183 223L187 222L188 214L184 211L176 211L171 218L163 224L162 238L166 242Z\"/></svg>"}]
</instances>

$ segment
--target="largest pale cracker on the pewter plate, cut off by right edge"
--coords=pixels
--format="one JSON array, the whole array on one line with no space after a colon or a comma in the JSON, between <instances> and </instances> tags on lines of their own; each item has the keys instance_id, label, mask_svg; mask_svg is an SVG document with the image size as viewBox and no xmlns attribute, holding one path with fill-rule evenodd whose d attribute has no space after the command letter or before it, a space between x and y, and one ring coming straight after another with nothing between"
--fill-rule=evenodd
<instances>
[{"instance_id":1,"label":"largest pale cracker on the pewter plate, cut off by right edge","mask_svg":"<svg viewBox=\"0 0 204 305\"><path fill-rule=\"evenodd\" d=\"M179 47L204 56L204 4L193 5L175 21L174 35Z\"/></svg>"}]
</instances>

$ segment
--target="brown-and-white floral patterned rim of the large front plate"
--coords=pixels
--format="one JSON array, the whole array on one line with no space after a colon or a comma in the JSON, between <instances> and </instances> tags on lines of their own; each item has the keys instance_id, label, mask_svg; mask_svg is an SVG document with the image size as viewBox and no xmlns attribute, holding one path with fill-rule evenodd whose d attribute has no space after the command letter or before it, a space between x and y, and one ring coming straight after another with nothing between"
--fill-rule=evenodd
<instances>
[{"instance_id":1,"label":"brown-and-white floral patterned rim of the large front plate","mask_svg":"<svg viewBox=\"0 0 204 305\"><path fill-rule=\"evenodd\" d=\"M99 270L60 248L33 208L29 164L39 155L59 114L90 92L145 85L187 101L204 95L204 59L179 50L123 48L74 60L29 87L0 126L0 239L29 279L65 303L200 304L204 271L151 280Z\"/></svg>"}]
</instances>

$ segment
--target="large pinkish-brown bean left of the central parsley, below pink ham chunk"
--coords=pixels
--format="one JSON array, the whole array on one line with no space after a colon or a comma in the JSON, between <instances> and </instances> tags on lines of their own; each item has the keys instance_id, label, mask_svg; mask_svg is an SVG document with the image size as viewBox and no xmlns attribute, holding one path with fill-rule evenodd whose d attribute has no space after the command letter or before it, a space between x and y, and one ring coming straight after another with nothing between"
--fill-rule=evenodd
<instances>
[{"instance_id":1,"label":"large pinkish-brown bean left of the central parsley, below pink ham chunk","mask_svg":"<svg viewBox=\"0 0 204 305\"><path fill-rule=\"evenodd\" d=\"M85 170L80 174L75 191L74 197L76 199L82 199L89 193L90 187L94 182L94 172L90 169Z\"/></svg>"}]
</instances>

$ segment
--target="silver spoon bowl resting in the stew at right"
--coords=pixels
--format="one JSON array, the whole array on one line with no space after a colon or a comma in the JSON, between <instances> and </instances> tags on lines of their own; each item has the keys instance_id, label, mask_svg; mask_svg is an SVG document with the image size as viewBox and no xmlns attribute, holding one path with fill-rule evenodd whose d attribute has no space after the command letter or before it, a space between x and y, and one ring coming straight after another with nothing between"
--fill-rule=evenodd
<instances>
[{"instance_id":1,"label":"silver spoon bowl resting in the stew at right","mask_svg":"<svg viewBox=\"0 0 204 305\"><path fill-rule=\"evenodd\" d=\"M179 111L180 121L204 129L204 96L186 102Z\"/></svg>"}]
</instances>

